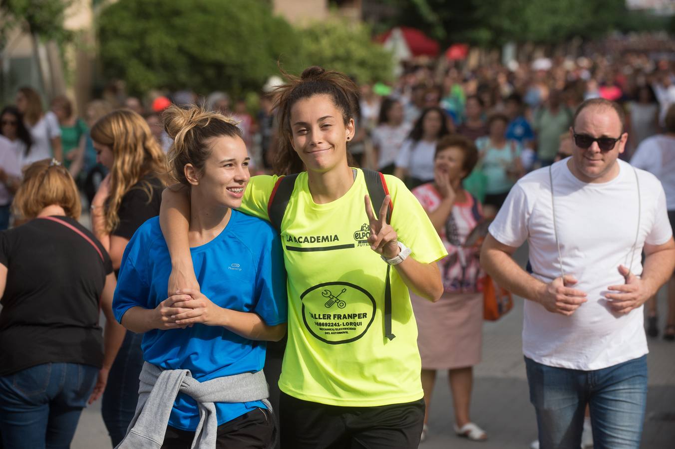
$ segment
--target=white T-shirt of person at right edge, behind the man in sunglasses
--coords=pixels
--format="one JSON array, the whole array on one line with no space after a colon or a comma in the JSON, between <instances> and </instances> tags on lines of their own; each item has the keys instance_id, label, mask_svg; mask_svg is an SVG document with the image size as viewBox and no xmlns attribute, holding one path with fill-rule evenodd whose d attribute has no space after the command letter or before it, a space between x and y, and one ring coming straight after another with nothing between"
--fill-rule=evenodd
<instances>
[{"instance_id":1,"label":"white T-shirt of person at right edge, behind the man in sunglasses","mask_svg":"<svg viewBox=\"0 0 675 449\"><path fill-rule=\"evenodd\" d=\"M668 210L675 210L675 137L659 134L643 140L630 158L630 164L661 181Z\"/></svg>"}]
</instances>

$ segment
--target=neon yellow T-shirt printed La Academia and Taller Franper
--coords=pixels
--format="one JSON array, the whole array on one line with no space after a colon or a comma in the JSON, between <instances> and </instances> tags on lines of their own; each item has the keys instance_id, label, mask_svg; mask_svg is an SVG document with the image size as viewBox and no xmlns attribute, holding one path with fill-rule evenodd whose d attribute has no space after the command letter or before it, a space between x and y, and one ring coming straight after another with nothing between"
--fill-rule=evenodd
<instances>
[{"instance_id":1,"label":"neon yellow T-shirt printed La Academia and Taller Franper","mask_svg":"<svg viewBox=\"0 0 675 449\"><path fill-rule=\"evenodd\" d=\"M267 203L277 176L252 177L240 210L269 220ZM448 253L412 193L385 175L394 209L391 226L418 262ZM281 391L327 405L375 407L423 396L417 326L410 295L391 269L391 331L384 334L387 264L368 243L362 171L342 198L315 204L307 173L295 189L281 222L288 272L288 345ZM375 214L380 204L373 205Z\"/></svg>"}]
</instances>

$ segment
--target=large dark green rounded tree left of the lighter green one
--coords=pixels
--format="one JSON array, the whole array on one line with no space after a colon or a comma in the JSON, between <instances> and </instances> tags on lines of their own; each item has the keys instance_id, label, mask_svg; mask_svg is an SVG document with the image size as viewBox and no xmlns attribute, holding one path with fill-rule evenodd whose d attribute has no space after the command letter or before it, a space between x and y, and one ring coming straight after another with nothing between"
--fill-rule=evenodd
<instances>
[{"instance_id":1,"label":"large dark green rounded tree left of the lighter green one","mask_svg":"<svg viewBox=\"0 0 675 449\"><path fill-rule=\"evenodd\" d=\"M260 0L119 0L97 21L104 73L130 92L241 94L278 73L279 59L298 69L296 32Z\"/></svg>"}]
</instances>

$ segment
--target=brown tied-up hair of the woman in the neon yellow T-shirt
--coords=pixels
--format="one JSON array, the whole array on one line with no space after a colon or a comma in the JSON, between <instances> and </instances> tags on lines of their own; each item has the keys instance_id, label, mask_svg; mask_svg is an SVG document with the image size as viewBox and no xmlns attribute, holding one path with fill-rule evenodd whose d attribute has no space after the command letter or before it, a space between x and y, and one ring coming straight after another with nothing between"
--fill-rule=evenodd
<instances>
[{"instance_id":1,"label":"brown tied-up hair of the woman in the neon yellow T-shirt","mask_svg":"<svg viewBox=\"0 0 675 449\"><path fill-rule=\"evenodd\" d=\"M293 105L303 98L328 95L335 107L342 112L342 119L347 125L350 119L358 115L358 86L344 73L325 70L316 65L304 69L300 77L290 75L284 70L281 70L281 73L287 82L273 91L279 118L278 148L273 165L275 173L288 175L304 170L304 164L292 146L290 115Z\"/></svg>"}]
</instances>

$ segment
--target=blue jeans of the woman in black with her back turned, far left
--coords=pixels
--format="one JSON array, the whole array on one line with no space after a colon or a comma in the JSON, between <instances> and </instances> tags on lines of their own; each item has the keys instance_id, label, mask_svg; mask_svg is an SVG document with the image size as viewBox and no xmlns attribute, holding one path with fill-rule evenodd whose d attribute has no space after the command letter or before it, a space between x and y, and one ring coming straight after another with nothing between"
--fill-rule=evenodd
<instances>
[{"instance_id":1,"label":"blue jeans of the woman in black with her back turned, far left","mask_svg":"<svg viewBox=\"0 0 675 449\"><path fill-rule=\"evenodd\" d=\"M0 376L0 448L70 448L99 369L43 363Z\"/></svg>"}]
</instances>

